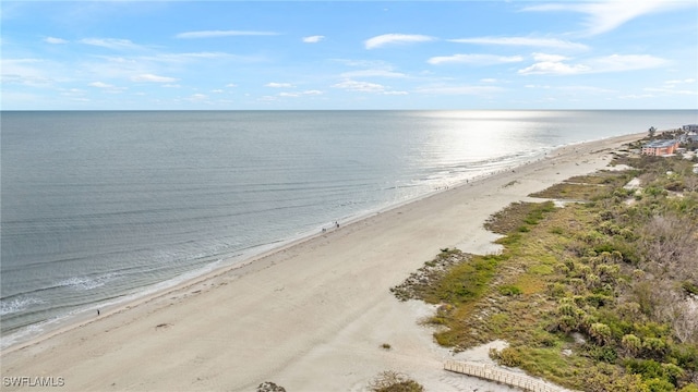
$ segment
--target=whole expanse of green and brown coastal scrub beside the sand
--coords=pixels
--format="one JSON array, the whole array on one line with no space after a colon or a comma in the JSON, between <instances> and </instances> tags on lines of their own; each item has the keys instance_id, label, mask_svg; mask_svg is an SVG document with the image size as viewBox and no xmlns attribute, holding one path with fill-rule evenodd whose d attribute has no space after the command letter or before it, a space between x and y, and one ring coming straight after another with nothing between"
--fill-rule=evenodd
<instances>
[{"instance_id":1,"label":"whole expanse of green and brown coastal scrub beside the sand","mask_svg":"<svg viewBox=\"0 0 698 392\"><path fill-rule=\"evenodd\" d=\"M493 359L563 387L698 392L694 162L624 154L613 164L625 170L531 195L558 203L495 213L485 226L502 253L442 249L393 292L438 305L440 344L505 340Z\"/></svg>"}]
</instances>

